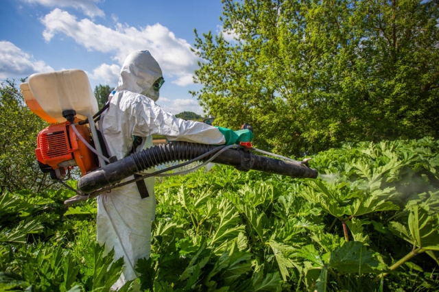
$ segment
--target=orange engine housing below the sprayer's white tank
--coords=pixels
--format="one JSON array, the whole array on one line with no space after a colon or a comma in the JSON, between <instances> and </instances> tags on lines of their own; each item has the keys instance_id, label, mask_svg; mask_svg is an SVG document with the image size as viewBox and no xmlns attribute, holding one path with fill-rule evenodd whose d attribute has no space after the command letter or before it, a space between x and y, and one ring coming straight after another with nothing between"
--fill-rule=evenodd
<instances>
[{"instance_id":1,"label":"orange engine housing below the sprayer's white tank","mask_svg":"<svg viewBox=\"0 0 439 292\"><path fill-rule=\"evenodd\" d=\"M76 122L76 121L75 121ZM76 125L76 130L90 143L90 130L87 125ZM81 175L96 168L95 154L82 143L71 129L68 121L49 125L38 133L36 158L52 169L65 169L78 166Z\"/></svg>"}]
</instances>

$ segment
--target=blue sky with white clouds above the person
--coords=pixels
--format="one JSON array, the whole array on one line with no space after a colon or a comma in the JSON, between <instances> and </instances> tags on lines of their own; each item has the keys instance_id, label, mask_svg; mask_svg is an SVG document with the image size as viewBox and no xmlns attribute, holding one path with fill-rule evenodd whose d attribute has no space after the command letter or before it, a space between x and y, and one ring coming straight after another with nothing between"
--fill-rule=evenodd
<instances>
[{"instance_id":1,"label":"blue sky with white clouds above the person","mask_svg":"<svg viewBox=\"0 0 439 292\"><path fill-rule=\"evenodd\" d=\"M221 0L2 0L0 80L82 69L92 88L117 86L126 56L147 49L165 78L157 103L202 114L188 93L200 88L193 29L219 34L221 14Z\"/></svg>"}]
</instances>

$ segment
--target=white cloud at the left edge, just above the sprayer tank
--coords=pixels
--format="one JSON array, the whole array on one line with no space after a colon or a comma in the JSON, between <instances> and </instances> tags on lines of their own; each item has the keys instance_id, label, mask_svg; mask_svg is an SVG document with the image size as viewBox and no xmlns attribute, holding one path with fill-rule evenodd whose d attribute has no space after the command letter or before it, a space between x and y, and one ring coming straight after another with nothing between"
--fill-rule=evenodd
<instances>
[{"instance_id":1,"label":"white cloud at the left edge, just above the sprayer tank","mask_svg":"<svg viewBox=\"0 0 439 292\"><path fill-rule=\"evenodd\" d=\"M54 69L45 62L35 60L12 42L0 41L0 79L28 77L33 73L49 71Z\"/></svg>"}]
</instances>

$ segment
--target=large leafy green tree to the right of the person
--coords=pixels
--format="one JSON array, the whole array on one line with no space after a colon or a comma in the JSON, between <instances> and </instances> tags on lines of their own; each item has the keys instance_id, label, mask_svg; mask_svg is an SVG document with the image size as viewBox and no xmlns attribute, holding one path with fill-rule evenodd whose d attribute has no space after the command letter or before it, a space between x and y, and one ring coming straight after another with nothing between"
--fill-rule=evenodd
<instances>
[{"instance_id":1,"label":"large leafy green tree to the right of the person","mask_svg":"<svg viewBox=\"0 0 439 292\"><path fill-rule=\"evenodd\" d=\"M223 0L198 36L192 92L258 147L304 154L343 141L438 137L437 0Z\"/></svg>"}]
</instances>

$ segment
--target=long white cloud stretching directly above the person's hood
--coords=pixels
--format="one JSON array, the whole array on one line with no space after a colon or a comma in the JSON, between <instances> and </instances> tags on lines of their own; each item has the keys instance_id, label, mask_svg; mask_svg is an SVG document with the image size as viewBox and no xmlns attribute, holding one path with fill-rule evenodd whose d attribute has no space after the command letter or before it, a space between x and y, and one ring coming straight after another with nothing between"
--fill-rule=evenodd
<instances>
[{"instance_id":1,"label":"long white cloud stretching directly above the person's hood","mask_svg":"<svg viewBox=\"0 0 439 292\"><path fill-rule=\"evenodd\" d=\"M132 51L147 49L165 75L177 78L175 84L185 86L192 83L197 57L191 51L191 45L187 40L176 38L160 23L140 28L117 23L115 29L111 29L89 19L78 21L75 16L58 8L40 21L45 25L43 36L47 41L55 34L64 34L90 51L113 53L112 58L119 64Z\"/></svg>"}]
</instances>

